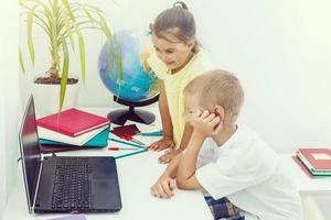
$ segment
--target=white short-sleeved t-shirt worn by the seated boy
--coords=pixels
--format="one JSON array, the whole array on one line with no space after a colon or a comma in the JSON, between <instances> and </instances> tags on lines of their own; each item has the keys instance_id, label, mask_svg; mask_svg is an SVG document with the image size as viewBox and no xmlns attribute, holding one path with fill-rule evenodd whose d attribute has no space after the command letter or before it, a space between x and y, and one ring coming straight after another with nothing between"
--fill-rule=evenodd
<instances>
[{"instance_id":1,"label":"white short-sleeved t-shirt worn by the seated boy","mask_svg":"<svg viewBox=\"0 0 331 220\"><path fill-rule=\"evenodd\" d=\"M226 197L249 219L298 220L301 201L279 156L249 128L238 125L222 146L207 139L195 176L214 198Z\"/></svg>"}]
</instances>

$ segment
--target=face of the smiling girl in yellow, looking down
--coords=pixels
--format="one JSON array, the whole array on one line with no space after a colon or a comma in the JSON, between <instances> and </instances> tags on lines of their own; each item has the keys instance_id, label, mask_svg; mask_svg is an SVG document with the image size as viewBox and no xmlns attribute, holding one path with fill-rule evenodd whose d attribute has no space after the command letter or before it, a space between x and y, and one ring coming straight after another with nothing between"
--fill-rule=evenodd
<instances>
[{"instance_id":1,"label":"face of the smiling girl in yellow, looking down","mask_svg":"<svg viewBox=\"0 0 331 220\"><path fill-rule=\"evenodd\" d=\"M171 70L180 70L186 65L192 57L192 47L194 42L180 42L174 36L167 36L167 40L159 38L152 34L152 42L156 48L157 56L167 65Z\"/></svg>"}]
</instances>

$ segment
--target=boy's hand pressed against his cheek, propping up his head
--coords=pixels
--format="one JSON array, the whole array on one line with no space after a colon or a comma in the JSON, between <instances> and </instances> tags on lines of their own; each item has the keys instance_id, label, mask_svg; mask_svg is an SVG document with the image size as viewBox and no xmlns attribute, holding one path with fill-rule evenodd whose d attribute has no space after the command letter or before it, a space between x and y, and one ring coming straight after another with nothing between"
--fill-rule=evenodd
<instances>
[{"instance_id":1,"label":"boy's hand pressed against his cheek, propping up his head","mask_svg":"<svg viewBox=\"0 0 331 220\"><path fill-rule=\"evenodd\" d=\"M186 122L194 128L193 133L202 139L213 136L223 129L221 118L207 110L190 112L186 116Z\"/></svg>"}]
</instances>

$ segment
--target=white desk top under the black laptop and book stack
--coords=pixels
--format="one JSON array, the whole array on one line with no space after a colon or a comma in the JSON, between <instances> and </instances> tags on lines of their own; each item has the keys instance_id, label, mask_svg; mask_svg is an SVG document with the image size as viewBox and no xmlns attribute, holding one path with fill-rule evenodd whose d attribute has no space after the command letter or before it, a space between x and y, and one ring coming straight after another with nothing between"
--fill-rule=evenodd
<instances>
[{"instance_id":1,"label":"white desk top under the black laptop and book stack","mask_svg":"<svg viewBox=\"0 0 331 220\"><path fill-rule=\"evenodd\" d=\"M88 109L102 116L106 116L106 109ZM158 118L158 117L157 117ZM158 121L157 121L158 122ZM156 138L158 139L158 138ZM115 143L111 143L115 144ZM116 143L116 145L119 145ZM19 147L19 146L18 146ZM64 152L61 155L98 156L118 155L118 152L103 150L84 150ZM159 199L150 195L150 186L158 179L164 165L158 163L161 153L145 152L117 160L118 178L122 201L122 209L117 213L88 213L86 218L114 219L114 220L140 220L140 219L213 219L201 191L179 190L171 199ZM67 215L29 215L25 198L21 164L18 166L18 179L9 196L4 209L3 219L51 219Z\"/></svg>"}]
</instances>

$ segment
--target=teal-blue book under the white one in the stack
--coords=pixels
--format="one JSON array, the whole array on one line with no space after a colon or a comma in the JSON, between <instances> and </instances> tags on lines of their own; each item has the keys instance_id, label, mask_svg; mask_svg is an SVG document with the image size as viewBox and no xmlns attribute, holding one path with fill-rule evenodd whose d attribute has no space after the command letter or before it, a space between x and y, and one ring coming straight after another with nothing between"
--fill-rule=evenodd
<instances>
[{"instance_id":1,"label":"teal-blue book under the white one in the stack","mask_svg":"<svg viewBox=\"0 0 331 220\"><path fill-rule=\"evenodd\" d=\"M94 138L92 138L88 142L86 142L84 145L82 145L83 147L93 147L93 146L97 146L97 147L105 147L108 144L108 135L109 135L109 127L107 129L105 129L104 131L102 131L100 133L98 133L97 135L95 135ZM75 146L72 144L67 144L67 143L63 143L63 142L56 142L56 141L51 141L51 140L46 140L46 139L40 139L39 143L41 145L57 145L57 146Z\"/></svg>"}]
</instances>

